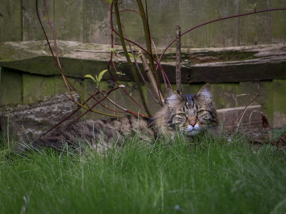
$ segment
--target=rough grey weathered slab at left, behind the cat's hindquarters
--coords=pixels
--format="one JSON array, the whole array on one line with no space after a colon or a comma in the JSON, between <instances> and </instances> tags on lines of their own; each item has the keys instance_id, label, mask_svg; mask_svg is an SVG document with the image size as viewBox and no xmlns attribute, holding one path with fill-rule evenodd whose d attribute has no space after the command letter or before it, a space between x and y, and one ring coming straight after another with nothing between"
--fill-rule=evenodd
<instances>
[{"instance_id":1,"label":"rough grey weathered slab at left, behind the cat's hindquarters","mask_svg":"<svg viewBox=\"0 0 286 214\"><path fill-rule=\"evenodd\" d=\"M6 144L39 137L51 127L67 118L78 105L67 98L68 94L43 97L31 104L8 104L0 107L0 128ZM77 94L73 94L78 99ZM67 121L75 118L75 115ZM66 121L66 122L67 122ZM8 124L8 126L7 126ZM8 129L7 129L8 127Z\"/></svg>"}]
</instances>

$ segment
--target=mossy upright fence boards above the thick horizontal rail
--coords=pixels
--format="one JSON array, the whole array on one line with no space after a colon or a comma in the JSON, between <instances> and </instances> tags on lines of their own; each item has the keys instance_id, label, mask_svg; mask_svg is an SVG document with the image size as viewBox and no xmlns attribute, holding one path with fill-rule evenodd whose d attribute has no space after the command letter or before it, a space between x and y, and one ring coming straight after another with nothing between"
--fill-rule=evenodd
<instances>
[{"instance_id":1,"label":"mossy upright fence boards above the thick horizontal rail","mask_svg":"<svg viewBox=\"0 0 286 214\"><path fill-rule=\"evenodd\" d=\"M201 23L240 13L249 13L249 4L255 1L237 0L158 0L147 1L151 36L158 47L165 47L176 35L176 25L182 32ZM50 19L57 39L65 41L110 44L110 11L105 0L49 0ZM284 0L256 2L256 10L286 7ZM52 39L51 31L44 19L43 0L39 0L39 15ZM124 0L120 10L138 11L135 1ZM35 0L1 0L0 42L44 40L44 34L36 15ZM122 22L126 35L134 42L144 45L144 34L140 15L122 11ZM115 19L115 18L114 18ZM114 20L115 23L115 20ZM119 39L115 39L118 43ZM285 43L286 10L256 13L244 17L227 19L199 27L182 37L183 47L229 47Z\"/></svg>"}]
</instances>

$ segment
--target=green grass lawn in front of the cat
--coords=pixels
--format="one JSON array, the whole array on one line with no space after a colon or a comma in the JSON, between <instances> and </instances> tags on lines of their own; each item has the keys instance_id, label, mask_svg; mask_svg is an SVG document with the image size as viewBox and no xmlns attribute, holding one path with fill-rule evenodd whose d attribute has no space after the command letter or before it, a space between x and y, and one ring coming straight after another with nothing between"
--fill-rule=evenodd
<instances>
[{"instance_id":1,"label":"green grass lawn in front of the cat","mask_svg":"<svg viewBox=\"0 0 286 214\"><path fill-rule=\"evenodd\" d=\"M244 140L5 158L1 213L285 213L285 154Z\"/></svg>"}]
</instances>

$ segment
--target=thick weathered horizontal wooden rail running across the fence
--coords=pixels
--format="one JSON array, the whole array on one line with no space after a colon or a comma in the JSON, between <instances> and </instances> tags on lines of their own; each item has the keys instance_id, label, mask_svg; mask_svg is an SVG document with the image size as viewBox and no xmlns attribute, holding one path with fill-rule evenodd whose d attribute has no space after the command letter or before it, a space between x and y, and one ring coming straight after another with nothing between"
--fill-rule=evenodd
<instances>
[{"instance_id":1,"label":"thick weathered horizontal wooden rail running across the fence","mask_svg":"<svg viewBox=\"0 0 286 214\"><path fill-rule=\"evenodd\" d=\"M52 44L54 49L54 45ZM114 47L119 53L114 61L126 62L121 46ZM82 78L86 74L99 74L110 60L110 45L57 41L61 67L66 76ZM270 44L227 48L187 49L182 48L182 83L245 82L285 79L286 45ZM134 47L135 55L140 49ZM158 48L158 53L162 49ZM176 82L176 50L168 49L160 62L170 82ZM142 73L144 68L138 60ZM46 41L0 43L0 66L31 74L59 75ZM127 63L120 64L126 75L118 78L133 81ZM222 75L226 74L226 75ZM139 74L138 74L139 75ZM146 77L146 76L145 76ZM104 75L109 79L110 76ZM146 77L147 78L147 77Z\"/></svg>"}]
</instances>

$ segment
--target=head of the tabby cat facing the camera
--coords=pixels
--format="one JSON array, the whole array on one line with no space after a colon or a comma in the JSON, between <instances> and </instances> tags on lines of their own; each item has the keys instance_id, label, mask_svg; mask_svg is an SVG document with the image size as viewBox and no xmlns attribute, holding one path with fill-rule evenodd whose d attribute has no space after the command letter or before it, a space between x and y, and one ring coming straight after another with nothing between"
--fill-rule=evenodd
<instances>
[{"instance_id":1,"label":"head of the tabby cat facing the camera","mask_svg":"<svg viewBox=\"0 0 286 214\"><path fill-rule=\"evenodd\" d=\"M171 131L193 136L218 126L210 84L205 84L196 94L184 96L167 89L164 109L166 112L162 117L165 117L166 125Z\"/></svg>"}]
</instances>

